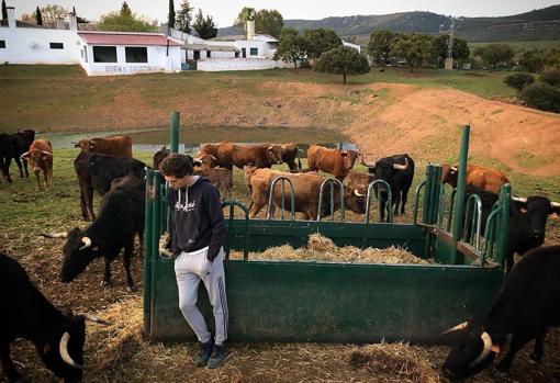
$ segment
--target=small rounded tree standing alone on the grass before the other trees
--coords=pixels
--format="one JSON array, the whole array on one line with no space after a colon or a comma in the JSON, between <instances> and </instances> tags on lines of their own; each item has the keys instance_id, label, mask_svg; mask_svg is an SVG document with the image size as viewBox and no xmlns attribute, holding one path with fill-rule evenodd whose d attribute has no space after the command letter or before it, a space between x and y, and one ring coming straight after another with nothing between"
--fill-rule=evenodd
<instances>
[{"instance_id":1,"label":"small rounded tree standing alone on the grass before the other trees","mask_svg":"<svg viewBox=\"0 0 560 383\"><path fill-rule=\"evenodd\" d=\"M343 82L346 83L346 76L369 72L369 64L366 56L358 50L348 46L339 46L322 54L315 61L315 70L343 75Z\"/></svg>"}]
</instances>

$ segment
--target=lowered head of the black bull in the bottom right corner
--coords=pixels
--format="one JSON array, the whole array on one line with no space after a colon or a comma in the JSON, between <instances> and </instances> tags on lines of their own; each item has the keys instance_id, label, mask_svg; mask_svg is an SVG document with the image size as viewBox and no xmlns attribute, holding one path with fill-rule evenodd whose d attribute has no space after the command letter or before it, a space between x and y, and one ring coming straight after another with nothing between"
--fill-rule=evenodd
<instances>
[{"instance_id":1,"label":"lowered head of the black bull in the bottom right corner","mask_svg":"<svg viewBox=\"0 0 560 383\"><path fill-rule=\"evenodd\" d=\"M497 353L500 346L480 325L462 323L444 334L456 337L451 351L444 363L444 373L453 380L472 376L488 368Z\"/></svg>"}]
</instances>

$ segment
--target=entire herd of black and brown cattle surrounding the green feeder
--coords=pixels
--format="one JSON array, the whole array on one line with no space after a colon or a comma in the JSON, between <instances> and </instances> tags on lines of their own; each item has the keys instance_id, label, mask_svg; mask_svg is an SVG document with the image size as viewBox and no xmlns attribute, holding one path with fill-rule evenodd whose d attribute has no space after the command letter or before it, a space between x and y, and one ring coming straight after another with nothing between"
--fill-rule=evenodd
<instances>
[{"instance_id":1,"label":"entire herd of black and brown cattle surrounding the green feeder","mask_svg":"<svg viewBox=\"0 0 560 383\"><path fill-rule=\"evenodd\" d=\"M75 147L80 148L74 167L80 187L81 215L83 219L91 219L92 223L85 229L43 234L53 238L66 238L59 279L61 282L70 282L93 259L103 258L104 275L101 284L108 285L111 280L111 261L124 249L126 286L127 290L133 290L130 264L136 235L142 252L144 179L147 167L132 157L132 140L127 136L82 139L76 143ZM331 205L326 200L322 203L324 209L318 211L320 190L327 178L317 170L331 173L343 185L341 189L334 189L335 210L340 209L341 198L349 210L365 214L369 184L382 180L389 184L392 195L393 206L388 209L393 209L395 215L404 214L415 169L414 160L408 155L395 155L367 162L363 154L360 156L355 150L311 145L307 149L307 169L302 169L299 150L295 144L242 146L221 143L203 146L199 157L191 157L191 160L195 166L195 173L208 178L223 199L231 196L233 167L244 169L250 195L251 218L268 204L271 181L278 177L291 181L295 211L302 213L305 219L328 215ZM157 169L169 154L170 150L163 147L154 155L153 167ZM368 173L352 170L359 157ZM8 182L12 182L9 172L12 159L18 164L22 178L29 177L29 162L36 174L37 189L42 187L42 172L45 189L52 188L53 150L48 140L35 139L35 132L31 129L12 135L0 134L0 166ZM272 169L283 162L289 166L290 171ZM443 182L455 188L457 178L457 167L443 166ZM468 166L467 198L473 193L481 198L483 225L497 201L496 193L502 184L508 182L506 176L499 170ZM92 206L93 191L103 196L97 215ZM340 191L344 195L340 195ZM325 199L328 194L331 193L324 193ZM383 214L388 193L379 190L377 194ZM275 207L290 206L288 184L277 184L272 196L272 214ZM545 240L547 218L552 213L560 214L560 204L547 198L512 199L506 259L506 269L511 273L484 316L448 331L451 334L448 336L457 338L456 346L444 365L449 376L466 378L490 365L508 334L513 335L512 347L497 365L500 371L508 370L517 350L530 339L536 339L531 358L540 361L547 329L560 325L560 246L539 247ZM512 270L515 252L527 255ZM16 296L8 291L15 291ZM59 312L30 282L21 266L1 252L0 307L10 307L9 311L3 311L9 313L8 316L0 316L0 359L3 372L10 381L21 379L10 359L10 342L16 337L34 342L47 368L57 376L66 382L81 379L85 320L103 320L87 314Z\"/></svg>"}]
</instances>

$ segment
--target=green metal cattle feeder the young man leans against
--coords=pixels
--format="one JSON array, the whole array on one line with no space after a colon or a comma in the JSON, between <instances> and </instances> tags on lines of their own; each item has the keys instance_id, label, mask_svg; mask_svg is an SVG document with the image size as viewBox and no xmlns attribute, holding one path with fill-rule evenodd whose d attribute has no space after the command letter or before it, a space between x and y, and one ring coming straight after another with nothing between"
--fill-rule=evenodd
<instances>
[{"instance_id":1,"label":"green metal cattle feeder the young man leans against","mask_svg":"<svg viewBox=\"0 0 560 383\"><path fill-rule=\"evenodd\" d=\"M468 128L466 134L468 138ZM466 155L463 145L461 158ZM466 161L461 161L461 167L463 171L459 171L459 177L464 178ZM426 181L416 193L415 222L411 224L249 219L246 206L235 201L224 202L224 207L229 207L226 252L244 252L243 260L224 261L229 340L371 342L384 338L440 342L441 330L481 313L502 283L500 264L503 264L506 219L501 212L508 205L502 202L496 207L495 225L489 225L488 229L494 230L490 235L496 234L489 244L493 244L492 256L499 266L471 264L472 257L481 258L483 254L461 241L459 236L463 232L455 226L462 226L457 216L462 214L464 187L458 188L453 206L458 213L450 217L453 225L449 232L443 227L440 171L438 166L427 167ZM158 251L161 209L166 209L161 202L165 192L161 184L158 172L148 170L144 331L153 341L193 340L178 308L173 260L161 257ZM422 193L421 216L417 206ZM501 201L507 195L505 188ZM244 212L243 218L234 216L236 207ZM352 264L249 258L249 251L271 246L305 246L313 233L332 238L337 246L402 246L419 257L434 258L438 263ZM203 289L199 305L211 319Z\"/></svg>"}]
</instances>

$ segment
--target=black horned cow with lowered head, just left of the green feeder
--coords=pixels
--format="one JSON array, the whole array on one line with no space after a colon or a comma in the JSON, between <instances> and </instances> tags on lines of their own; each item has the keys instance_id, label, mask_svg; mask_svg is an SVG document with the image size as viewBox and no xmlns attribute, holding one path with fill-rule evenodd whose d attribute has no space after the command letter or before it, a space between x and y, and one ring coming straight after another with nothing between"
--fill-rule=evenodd
<instances>
[{"instance_id":1,"label":"black horned cow with lowered head, just left of the green feeder","mask_svg":"<svg viewBox=\"0 0 560 383\"><path fill-rule=\"evenodd\" d=\"M71 282L96 258L102 257L105 263L101 285L111 282L111 261L121 250L126 273L126 290L134 290L131 275L131 258L134 254L134 236L143 238L144 214L139 207L139 182L134 176L115 181L112 190L101 201L99 216L85 230L74 228L68 233L46 234L47 237L68 238L63 248L64 261L60 281ZM139 180L143 182L143 180ZM142 204L143 205L143 204Z\"/></svg>"}]
</instances>

